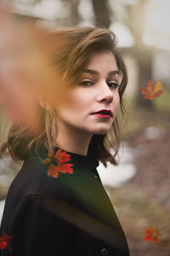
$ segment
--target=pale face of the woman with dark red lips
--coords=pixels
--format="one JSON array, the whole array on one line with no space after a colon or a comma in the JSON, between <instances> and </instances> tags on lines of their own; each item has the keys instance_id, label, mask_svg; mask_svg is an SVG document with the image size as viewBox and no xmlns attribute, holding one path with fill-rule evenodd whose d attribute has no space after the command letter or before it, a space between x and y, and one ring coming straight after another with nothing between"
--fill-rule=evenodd
<instances>
[{"instance_id":1,"label":"pale face of the woman with dark red lips","mask_svg":"<svg viewBox=\"0 0 170 256\"><path fill-rule=\"evenodd\" d=\"M71 88L65 100L59 103L59 123L87 131L90 134L105 134L111 129L119 107L118 68L111 51L92 55L88 67L76 86ZM101 110L110 114L94 114Z\"/></svg>"}]
</instances>

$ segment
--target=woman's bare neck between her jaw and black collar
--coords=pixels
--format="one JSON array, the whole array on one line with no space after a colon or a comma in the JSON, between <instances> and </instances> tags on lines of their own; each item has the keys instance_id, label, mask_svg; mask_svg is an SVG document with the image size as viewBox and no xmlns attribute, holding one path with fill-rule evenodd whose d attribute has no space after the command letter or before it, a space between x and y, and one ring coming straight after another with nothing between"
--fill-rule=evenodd
<instances>
[{"instance_id":1,"label":"woman's bare neck between her jaw and black collar","mask_svg":"<svg viewBox=\"0 0 170 256\"><path fill-rule=\"evenodd\" d=\"M59 124L56 143L59 148L65 151L87 155L92 136L93 134L87 131Z\"/></svg>"}]
</instances>

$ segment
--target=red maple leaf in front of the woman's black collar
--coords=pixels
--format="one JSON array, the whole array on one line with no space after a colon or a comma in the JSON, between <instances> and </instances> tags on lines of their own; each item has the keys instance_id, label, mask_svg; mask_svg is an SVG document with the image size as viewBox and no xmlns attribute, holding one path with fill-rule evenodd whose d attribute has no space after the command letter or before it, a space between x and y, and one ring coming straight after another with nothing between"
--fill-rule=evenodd
<instances>
[{"instance_id":1,"label":"red maple leaf in front of the woman's black collar","mask_svg":"<svg viewBox=\"0 0 170 256\"><path fill-rule=\"evenodd\" d=\"M58 149L57 152L54 154L53 149L49 151L48 157L45 160L42 160L43 164L48 164L50 162L50 166L48 168L48 176L58 177L59 172L62 173L73 173L72 164L65 163L71 160L71 155L67 154L62 149ZM57 163L58 166L53 164Z\"/></svg>"}]
</instances>

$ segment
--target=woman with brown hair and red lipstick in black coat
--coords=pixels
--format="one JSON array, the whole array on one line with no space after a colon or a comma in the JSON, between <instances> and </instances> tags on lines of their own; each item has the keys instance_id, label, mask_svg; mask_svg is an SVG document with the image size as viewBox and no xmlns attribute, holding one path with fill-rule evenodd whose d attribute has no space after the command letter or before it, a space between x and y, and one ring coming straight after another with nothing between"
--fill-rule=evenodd
<instances>
[{"instance_id":1,"label":"woman with brown hair and red lipstick in black coat","mask_svg":"<svg viewBox=\"0 0 170 256\"><path fill-rule=\"evenodd\" d=\"M13 125L8 134L9 153L24 164L8 189L1 236L12 238L1 253L127 256L122 226L96 170L99 160L117 164L120 144L116 113L119 107L123 112L127 73L115 35L71 27L49 38L62 42L50 53L60 83L56 94L38 99L37 132Z\"/></svg>"}]
</instances>

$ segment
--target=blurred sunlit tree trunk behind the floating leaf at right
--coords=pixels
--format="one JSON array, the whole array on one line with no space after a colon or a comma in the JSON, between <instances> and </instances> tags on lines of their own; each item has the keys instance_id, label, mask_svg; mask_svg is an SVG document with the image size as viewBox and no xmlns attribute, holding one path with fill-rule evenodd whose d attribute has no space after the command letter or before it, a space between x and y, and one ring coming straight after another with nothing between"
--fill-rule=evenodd
<instances>
[{"instance_id":1,"label":"blurred sunlit tree trunk behind the floating leaf at right","mask_svg":"<svg viewBox=\"0 0 170 256\"><path fill-rule=\"evenodd\" d=\"M139 4L131 5L128 10L128 24L133 37L135 45L133 47L133 57L136 59L139 68L139 82L138 86L146 85L149 79L152 79L152 52L142 40L144 33L144 3L145 0L139 1ZM138 90L137 105L142 108L153 109L153 103L150 100L144 99L141 90Z\"/></svg>"}]
</instances>

